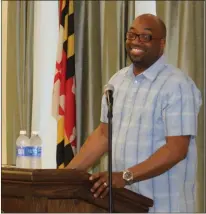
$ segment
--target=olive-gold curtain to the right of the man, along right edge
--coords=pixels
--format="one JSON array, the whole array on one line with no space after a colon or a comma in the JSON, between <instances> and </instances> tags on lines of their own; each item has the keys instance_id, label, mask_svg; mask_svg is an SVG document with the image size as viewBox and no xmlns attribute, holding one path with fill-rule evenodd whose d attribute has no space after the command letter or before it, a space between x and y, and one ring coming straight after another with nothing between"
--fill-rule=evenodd
<instances>
[{"instance_id":1,"label":"olive-gold curtain to the right of the man, along right edge","mask_svg":"<svg viewBox=\"0 0 206 214\"><path fill-rule=\"evenodd\" d=\"M165 54L168 61L186 72L204 98L204 2L157 1L157 15L167 27ZM204 103L204 100L203 100ZM198 118L197 212L204 210L204 106Z\"/></svg>"}]
</instances>

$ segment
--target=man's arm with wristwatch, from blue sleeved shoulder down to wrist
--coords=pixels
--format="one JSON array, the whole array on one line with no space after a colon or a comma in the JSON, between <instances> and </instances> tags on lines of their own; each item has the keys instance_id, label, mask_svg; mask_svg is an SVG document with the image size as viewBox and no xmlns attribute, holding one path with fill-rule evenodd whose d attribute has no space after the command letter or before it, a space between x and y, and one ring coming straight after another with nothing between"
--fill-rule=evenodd
<instances>
[{"instance_id":1,"label":"man's arm with wristwatch, from blue sleeved shoulder down to wrist","mask_svg":"<svg viewBox=\"0 0 206 214\"><path fill-rule=\"evenodd\" d=\"M165 101L162 102L166 144L147 160L130 168L136 181L158 176L183 160L190 136L197 134L197 116L201 105L199 90L184 76L178 81L176 78L170 81L173 83L164 89Z\"/></svg>"}]
</instances>

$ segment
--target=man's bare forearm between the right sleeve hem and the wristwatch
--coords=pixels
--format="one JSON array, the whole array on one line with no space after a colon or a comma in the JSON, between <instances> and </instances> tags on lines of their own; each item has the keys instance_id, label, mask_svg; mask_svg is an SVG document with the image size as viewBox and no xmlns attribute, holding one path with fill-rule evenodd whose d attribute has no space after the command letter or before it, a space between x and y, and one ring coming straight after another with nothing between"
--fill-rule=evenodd
<instances>
[{"instance_id":1,"label":"man's bare forearm between the right sleeve hem and the wristwatch","mask_svg":"<svg viewBox=\"0 0 206 214\"><path fill-rule=\"evenodd\" d=\"M166 142L147 160L129 168L129 171L134 174L134 181L147 180L161 175L186 157L190 136L166 137Z\"/></svg>"}]
</instances>

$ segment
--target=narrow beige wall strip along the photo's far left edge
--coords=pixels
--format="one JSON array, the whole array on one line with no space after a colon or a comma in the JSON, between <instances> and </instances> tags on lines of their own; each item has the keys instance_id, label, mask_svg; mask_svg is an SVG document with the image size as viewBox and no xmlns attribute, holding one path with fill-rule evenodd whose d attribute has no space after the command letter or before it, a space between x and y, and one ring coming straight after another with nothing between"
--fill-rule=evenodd
<instances>
[{"instance_id":1,"label":"narrow beige wall strip along the photo's far left edge","mask_svg":"<svg viewBox=\"0 0 206 214\"><path fill-rule=\"evenodd\" d=\"M2 164L7 163L6 150L6 56L8 1L2 1Z\"/></svg>"}]
</instances>

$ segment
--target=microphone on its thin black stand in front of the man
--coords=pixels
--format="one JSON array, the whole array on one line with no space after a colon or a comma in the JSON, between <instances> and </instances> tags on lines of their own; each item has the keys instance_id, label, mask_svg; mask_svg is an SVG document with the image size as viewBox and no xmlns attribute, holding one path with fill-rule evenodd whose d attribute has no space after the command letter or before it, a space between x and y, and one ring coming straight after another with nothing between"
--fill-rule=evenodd
<instances>
[{"instance_id":1,"label":"microphone on its thin black stand in front of the man","mask_svg":"<svg viewBox=\"0 0 206 214\"><path fill-rule=\"evenodd\" d=\"M104 87L104 93L107 99L108 105L108 172L109 172L109 213L113 213L114 205L112 198L112 111L113 111L113 92L114 86L107 84Z\"/></svg>"}]
</instances>

